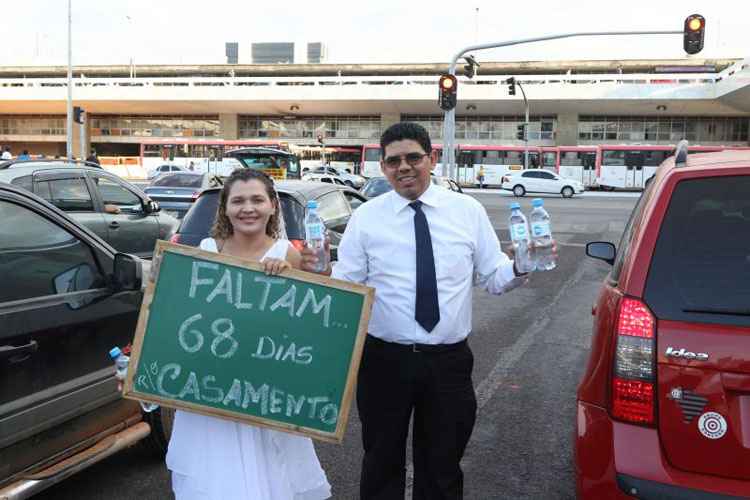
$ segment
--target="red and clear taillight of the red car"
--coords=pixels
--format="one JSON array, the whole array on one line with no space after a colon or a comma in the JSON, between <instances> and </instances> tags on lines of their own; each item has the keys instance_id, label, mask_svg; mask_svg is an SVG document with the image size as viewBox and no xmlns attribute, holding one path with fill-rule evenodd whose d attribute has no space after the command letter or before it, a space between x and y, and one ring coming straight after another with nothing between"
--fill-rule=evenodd
<instances>
[{"instance_id":1,"label":"red and clear taillight of the red car","mask_svg":"<svg viewBox=\"0 0 750 500\"><path fill-rule=\"evenodd\" d=\"M617 320L612 378L612 416L635 424L654 423L656 322L643 302L624 298Z\"/></svg>"}]
</instances>

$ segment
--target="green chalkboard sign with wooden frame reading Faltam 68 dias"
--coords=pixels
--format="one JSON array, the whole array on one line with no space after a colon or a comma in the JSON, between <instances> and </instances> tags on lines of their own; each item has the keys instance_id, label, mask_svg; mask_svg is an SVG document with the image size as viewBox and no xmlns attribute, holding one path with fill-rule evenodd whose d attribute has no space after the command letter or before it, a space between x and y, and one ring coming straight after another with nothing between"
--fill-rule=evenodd
<instances>
[{"instance_id":1,"label":"green chalkboard sign with wooden frame reading Faltam 68 dias","mask_svg":"<svg viewBox=\"0 0 750 500\"><path fill-rule=\"evenodd\" d=\"M155 256L125 397L341 442L374 289L163 241Z\"/></svg>"}]
</instances>

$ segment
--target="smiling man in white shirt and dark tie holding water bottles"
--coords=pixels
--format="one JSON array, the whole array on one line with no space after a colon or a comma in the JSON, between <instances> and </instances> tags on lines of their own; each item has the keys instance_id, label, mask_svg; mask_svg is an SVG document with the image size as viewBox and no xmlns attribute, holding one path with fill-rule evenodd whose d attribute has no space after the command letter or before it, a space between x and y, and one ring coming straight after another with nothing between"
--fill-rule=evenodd
<instances>
[{"instance_id":1,"label":"smiling man in white shirt and dark tie holding water bottles","mask_svg":"<svg viewBox=\"0 0 750 500\"><path fill-rule=\"evenodd\" d=\"M499 295L526 279L501 252L479 202L430 182L437 152L424 128L395 124L380 147L393 191L354 212L332 272L375 288L357 382L360 495L404 497L413 412L413 498L460 499L459 462L477 408L466 342L472 285ZM311 270L314 253L305 248L302 255Z\"/></svg>"}]
</instances>

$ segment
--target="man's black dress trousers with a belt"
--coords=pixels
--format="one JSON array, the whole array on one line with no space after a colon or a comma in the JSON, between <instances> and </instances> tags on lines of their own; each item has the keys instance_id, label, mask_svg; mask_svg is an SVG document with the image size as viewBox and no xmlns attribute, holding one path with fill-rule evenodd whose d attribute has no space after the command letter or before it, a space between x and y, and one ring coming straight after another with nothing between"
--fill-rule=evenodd
<instances>
[{"instance_id":1,"label":"man's black dress trousers with a belt","mask_svg":"<svg viewBox=\"0 0 750 500\"><path fill-rule=\"evenodd\" d=\"M466 342L415 352L367 337L357 382L362 421L362 500L404 498L406 437L414 412L414 500L463 498L460 461L477 402Z\"/></svg>"}]
</instances>

